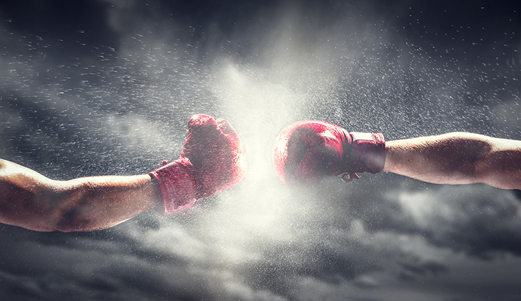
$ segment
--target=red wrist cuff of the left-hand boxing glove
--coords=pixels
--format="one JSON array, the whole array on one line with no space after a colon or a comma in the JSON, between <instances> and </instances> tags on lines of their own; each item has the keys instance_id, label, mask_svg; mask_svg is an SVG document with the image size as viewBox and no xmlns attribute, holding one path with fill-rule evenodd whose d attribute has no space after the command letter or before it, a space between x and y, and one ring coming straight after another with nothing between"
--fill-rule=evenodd
<instances>
[{"instance_id":1,"label":"red wrist cuff of the left-hand boxing glove","mask_svg":"<svg viewBox=\"0 0 521 301\"><path fill-rule=\"evenodd\" d=\"M195 202L196 184L190 161L173 161L149 172L149 175L159 183L165 214L185 209Z\"/></svg>"}]
</instances>

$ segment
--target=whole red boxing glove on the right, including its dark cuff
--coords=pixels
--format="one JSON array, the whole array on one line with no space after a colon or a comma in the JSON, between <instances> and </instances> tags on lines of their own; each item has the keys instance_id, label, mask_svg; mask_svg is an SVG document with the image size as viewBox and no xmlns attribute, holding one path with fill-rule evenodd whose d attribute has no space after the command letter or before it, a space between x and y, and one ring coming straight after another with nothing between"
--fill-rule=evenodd
<instances>
[{"instance_id":1,"label":"whole red boxing glove on the right, including its dark cuff","mask_svg":"<svg viewBox=\"0 0 521 301\"><path fill-rule=\"evenodd\" d=\"M300 121L278 134L273 159L279 179L289 185L339 174L349 182L359 178L356 172L383 170L385 140L380 133L348 133L328 122Z\"/></svg>"}]
</instances>

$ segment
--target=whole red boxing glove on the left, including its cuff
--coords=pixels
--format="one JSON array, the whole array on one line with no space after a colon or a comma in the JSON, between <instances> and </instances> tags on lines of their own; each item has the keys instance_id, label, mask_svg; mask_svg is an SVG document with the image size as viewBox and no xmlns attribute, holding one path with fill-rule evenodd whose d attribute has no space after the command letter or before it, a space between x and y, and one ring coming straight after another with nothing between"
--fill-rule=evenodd
<instances>
[{"instance_id":1,"label":"whole red boxing glove on the left, including its cuff","mask_svg":"<svg viewBox=\"0 0 521 301\"><path fill-rule=\"evenodd\" d=\"M197 114L189 120L179 159L163 161L163 166L149 175L158 180L168 214L234 187L245 173L243 146L232 125Z\"/></svg>"}]
</instances>

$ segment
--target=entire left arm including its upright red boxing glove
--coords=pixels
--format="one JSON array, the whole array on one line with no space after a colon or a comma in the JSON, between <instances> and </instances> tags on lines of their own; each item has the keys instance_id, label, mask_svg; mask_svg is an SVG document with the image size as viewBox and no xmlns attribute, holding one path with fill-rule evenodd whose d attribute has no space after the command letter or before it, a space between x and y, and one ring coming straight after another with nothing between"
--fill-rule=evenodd
<instances>
[{"instance_id":1,"label":"entire left arm including its upright red boxing glove","mask_svg":"<svg viewBox=\"0 0 521 301\"><path fill-rule=\"evenodd\" d=\"M157 205L165 213L184 209L239 184L246 162L232 125L196 114L188 128L179 159L137 176L53 181L0 159L0 222L35 231L93 231Z\"/></svg>"}]
</instances>

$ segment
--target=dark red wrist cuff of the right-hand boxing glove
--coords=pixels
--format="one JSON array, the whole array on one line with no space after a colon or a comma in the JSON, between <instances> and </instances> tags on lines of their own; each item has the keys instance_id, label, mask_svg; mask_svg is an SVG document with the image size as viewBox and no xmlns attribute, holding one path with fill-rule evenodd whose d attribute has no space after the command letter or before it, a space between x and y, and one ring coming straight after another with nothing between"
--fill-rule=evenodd
<instances>
[{"instance_id":1,"label":"dark red wrist cuff of the right-hand boxing glove","mask_svg":"<svg viewBox=\"0 0 521 301\"><path fill-rule=\"evenodd\" d=\"M385 165L385 139L381 133L352 132L351 144L353 157L352 168L348 172L381 172Z\"/></svg>"}]
</instances>

